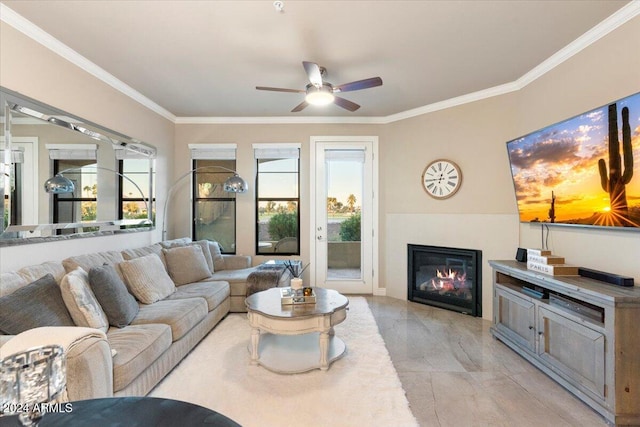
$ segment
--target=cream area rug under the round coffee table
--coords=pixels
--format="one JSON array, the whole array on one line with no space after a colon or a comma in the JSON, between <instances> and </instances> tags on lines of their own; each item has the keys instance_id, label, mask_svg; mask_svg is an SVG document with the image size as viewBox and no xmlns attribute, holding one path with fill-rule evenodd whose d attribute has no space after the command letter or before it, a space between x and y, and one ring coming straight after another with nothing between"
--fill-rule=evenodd
<instances>
[{"instance_id":1,"label":"cream area rug under the round coffee table","mask_svg":"<svg viewBox=\"0 0 640 427\"><path fill-rule=\"evenodd\" d=\"M279 375L249 364L245 314L228 315L152 392L192 402L244 427L417 426L362 297L336 326L347 353L328 371Z\"/></svg>"}]
</instances>

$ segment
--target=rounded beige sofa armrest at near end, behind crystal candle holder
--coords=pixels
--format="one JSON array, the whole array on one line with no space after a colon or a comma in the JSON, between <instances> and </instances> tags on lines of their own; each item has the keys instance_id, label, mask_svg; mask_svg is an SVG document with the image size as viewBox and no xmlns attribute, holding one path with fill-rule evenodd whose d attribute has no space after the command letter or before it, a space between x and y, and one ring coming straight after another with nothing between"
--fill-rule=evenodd
<instances>
[{"instance_id":1,"label":"rounded beige sofa armrest at near end, behind crystal candle holder","mask_svg":"<svg viewBox=\"0 0 640 427\"><path fill-rule=\"evenodd\" d=\"M29 329L0 347L0 357L44 345L64 348L67 358L66 400L113 396L113 361L104 332L78 326Z\"/></svg>"}]
</instances>

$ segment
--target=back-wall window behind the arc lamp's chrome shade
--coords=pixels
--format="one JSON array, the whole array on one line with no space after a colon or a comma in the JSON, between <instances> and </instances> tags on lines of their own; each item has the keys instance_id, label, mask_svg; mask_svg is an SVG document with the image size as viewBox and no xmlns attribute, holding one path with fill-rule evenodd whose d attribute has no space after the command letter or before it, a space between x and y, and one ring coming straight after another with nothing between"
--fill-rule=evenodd
<instances>
[{"instance_id":1,"label":"back-wall window behind the arc lamp's chrome shade","mask_svg":"<svg viewBox=\"0 0 640 427\"><path fill-rule=\"evenodd\" d=\"M193 240L211 240L236 253L236 194L224 182L236 170L235 144L190 144L193 159Z\"/></svg>"}]
</instances>

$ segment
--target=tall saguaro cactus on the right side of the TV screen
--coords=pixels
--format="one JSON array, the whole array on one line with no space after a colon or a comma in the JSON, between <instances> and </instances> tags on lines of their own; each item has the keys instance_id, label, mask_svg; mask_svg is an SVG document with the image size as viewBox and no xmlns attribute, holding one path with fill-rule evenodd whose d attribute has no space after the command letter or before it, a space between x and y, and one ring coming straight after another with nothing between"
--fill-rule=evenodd
<instances>
[{"instance_id":1,"label":"tall saguaro cactus on the right side of the TV screen","mask_svg":"<svg viewBox=\"0 0 640 427\"><path fill-rule=\"evenodd\" d=\"M620 158L620 140L618 139L618 110L616 104L609 105L609 176L604 159L598 161L602 189L609 193L611 212L623 218L629 218L625 186L633 177L633 151L631 149L631 128L629 126L629 108L622 109L622 153L624 154L624 173Z\"/></svg>"}]
</instances>

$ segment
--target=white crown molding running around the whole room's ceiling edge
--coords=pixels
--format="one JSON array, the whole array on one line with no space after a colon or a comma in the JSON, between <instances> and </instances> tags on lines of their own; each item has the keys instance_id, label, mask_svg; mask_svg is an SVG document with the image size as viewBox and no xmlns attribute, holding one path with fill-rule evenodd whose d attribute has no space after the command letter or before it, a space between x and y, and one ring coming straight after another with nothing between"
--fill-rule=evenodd
<instances>
[{"instance_id":1,"label":"white crown molding running around the whole room's ceiling edge","mask_svg":"<svg viewBox=\"0 0 640 427\"><path fill-rule=\"evenodd\" d=\"M175 124L388 124L399 120L419 115L432 113L459 105L468 104L494 96L504 95L518 91L538 78L542 77L555 67L562 64L572 56L581 52L591 44L606 36L616 28L625 24L629 20L640 15L640 0L631 0L628 4L620 8L604 21L591 28L589 31L578 37L576 40L560 49L558 52L547 58L535 68L521 76L519 79L494 86L477 92L450 98L444 101L435 102L423 107L414 108L388 116L373 117L177 117L170 111L156 104L131 86L117 79L95 63L89 61L75 50L60 42L31 21L23 18L9 7L0 3L0 20L11 25L26 36L42 44L51 51L57 53L79 68L93 75L94 77L107 83L114 89L127 95L148 109L156 112L162 117Z\"/></svg>"}]
</instances>

